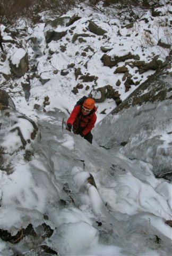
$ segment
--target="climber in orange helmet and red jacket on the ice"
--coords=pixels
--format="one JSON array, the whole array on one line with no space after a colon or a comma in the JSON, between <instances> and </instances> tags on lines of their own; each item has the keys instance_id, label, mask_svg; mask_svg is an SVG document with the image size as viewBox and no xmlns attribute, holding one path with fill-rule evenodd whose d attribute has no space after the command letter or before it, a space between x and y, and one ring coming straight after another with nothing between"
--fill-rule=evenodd
<instances>
[{"instance_id":1,"label":"climber in orange helmet and red jacket on the ice","mask_svg":"<svg viewBox=\"0 0 172 256\"><path fill-rule=\"evenodd\" d=\"M75 134L80 134L85 140L92 144L91 130L96 123L96 106L92 98L87 98L82 105L75 106L70 117L67 119L68 131L73 130ZM73 127L72 127L73 126Z\"/></svg>"}]
</instances>

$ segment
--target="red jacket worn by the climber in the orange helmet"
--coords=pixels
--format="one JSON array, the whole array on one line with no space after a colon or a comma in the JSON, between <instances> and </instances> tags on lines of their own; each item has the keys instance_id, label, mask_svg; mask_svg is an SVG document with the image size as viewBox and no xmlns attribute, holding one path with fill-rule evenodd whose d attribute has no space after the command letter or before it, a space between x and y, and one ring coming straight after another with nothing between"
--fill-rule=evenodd
<instances>
[{"instance_id":1,"label":"red jacket worn by the climber in the orange helmet","mask_svg":"<svg viewBox=\"0 0 172 256\"><path fill-rule=\"evenodd\" d=\"M92 130L96 123L96 106L88 115L82 115L82 105L75 106L70 117L67 119L67 124L72 124L76 133L82 133L84 136Z\"/></svg>"}]
</instances>

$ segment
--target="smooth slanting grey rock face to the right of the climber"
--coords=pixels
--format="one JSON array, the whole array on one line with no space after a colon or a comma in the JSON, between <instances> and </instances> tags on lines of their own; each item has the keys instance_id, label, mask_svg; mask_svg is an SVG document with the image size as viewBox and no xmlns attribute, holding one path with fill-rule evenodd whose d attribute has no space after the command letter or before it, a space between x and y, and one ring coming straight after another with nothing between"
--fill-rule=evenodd
<instances>
[{"instance_id":1,"label":"smooth slanting grey rock face to the right of the climber","mask_svg":"<svg viewBox=\"0 0 172 256\"><path fill-rule=\"evenodd\" d=\"M99 145L150 163L156 177L171 180L171 57L98 124ZM111 123L113 122L113 128ZM105 126L104 126L105 125ZM102 127L104 129L102 130ZM100 134L109 134L109 140ZM114 150L114 147L116 148Z\"/></svg>"}]
</instances>

